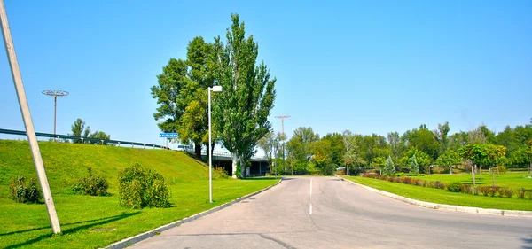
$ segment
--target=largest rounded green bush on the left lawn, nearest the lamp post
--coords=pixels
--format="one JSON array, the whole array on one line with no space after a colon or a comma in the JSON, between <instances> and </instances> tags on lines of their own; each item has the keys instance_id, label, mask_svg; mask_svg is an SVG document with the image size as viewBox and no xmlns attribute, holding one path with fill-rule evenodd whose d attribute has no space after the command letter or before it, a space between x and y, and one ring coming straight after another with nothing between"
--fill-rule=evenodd
<instances>
[{"instance_id":1,"label":"largest rounded green bush on the left lawn, nearest the lamp post","mask_svg":"<svg viewBox=\"0 0 532 249\"><path fill-rule=\"evenodd\" d=\"M135 163L120 172L118 181L121 206L136 209L170 206L164 177L152 168Z\"/></svg>"}]
</instances>

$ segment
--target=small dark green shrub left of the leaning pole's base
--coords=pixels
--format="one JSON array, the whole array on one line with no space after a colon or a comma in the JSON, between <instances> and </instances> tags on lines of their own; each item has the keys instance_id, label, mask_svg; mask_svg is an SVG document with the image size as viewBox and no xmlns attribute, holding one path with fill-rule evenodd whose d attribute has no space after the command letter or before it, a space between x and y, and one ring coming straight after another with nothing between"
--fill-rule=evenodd
<instances>
[{"instance_id":1,"label":"small dark green shrub left of the leaning pole's base","mask_svg":"<svg viewBox=\"0 0 532 249\"><path fill-rule=\"evenodd\" d=\"M9 183L12 199L20 203L37 203L41 198L41 190L35 178L29 178L29 183L26 177L18 176L16 179L12 177Z\"/></svg>"}]
</instances>

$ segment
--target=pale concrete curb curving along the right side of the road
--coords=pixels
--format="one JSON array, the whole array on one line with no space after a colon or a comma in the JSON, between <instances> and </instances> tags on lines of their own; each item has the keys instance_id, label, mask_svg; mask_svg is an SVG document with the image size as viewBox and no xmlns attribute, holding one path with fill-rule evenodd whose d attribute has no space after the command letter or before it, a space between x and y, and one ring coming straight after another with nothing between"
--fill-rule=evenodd
<instances>
[{"instance_id":1,"label":"pale concrete curb curving along the right side of the road","mask_svg":"<svg viewBox=\"0 0 532 249\"><path fill-rule=\"evenodd\" d=\"M355 183L348 179L344 179L343 177L340 177L338 175L336 175L336 177L341 179L341 181L346 181L356 186L360 186L368 191L379 193L380 195L386 196L388 198L395 198L396 200L400 200L400 201L403 201L411 205L423 206L423 207L431 208L431 209L441 209L441 210L447 210L447 211L469 213L469 214L489 214L489 215L532 218L532 211L488 209L488 208L473 207L473 206L454 206L454 205L447 205L447 204L437 204L437 203L426 202L426 201L421 201L421 200L412 199L412 198L405 198L403 196L396 195L396 194L393 194L387 191L379 191L377 189L373 189L372 187L368 187L364 184Z\"/></svg>"}]
</instances>

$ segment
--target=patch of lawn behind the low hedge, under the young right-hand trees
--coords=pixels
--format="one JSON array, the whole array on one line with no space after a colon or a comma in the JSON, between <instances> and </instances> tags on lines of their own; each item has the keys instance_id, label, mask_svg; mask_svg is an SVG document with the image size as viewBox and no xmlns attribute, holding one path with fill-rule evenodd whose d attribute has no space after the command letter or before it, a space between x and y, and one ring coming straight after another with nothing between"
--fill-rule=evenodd
<instances>
[{"instance_id":1,"label":"patch of lawn behind the low hedge, under the young right-hand trees","mask_svg":"<svg viewBox=\"0 0 532 249\"><path fill-rule=\"evenodd\" d=\"M495 175L495 184L500 187L508 187L514 190L525 188L532 189L532 178L527 178L527 173L508 173ZM448 174L434 174L424 176L411 176L412 178L418 178L426 181L440 181L445 184L460 182L465 184L473 184L473 179L469 174L460 175L448 175ZM476 174L475 183L480 186L491 186L492 175L482 173Z\"/></svg>"}]
</instances>

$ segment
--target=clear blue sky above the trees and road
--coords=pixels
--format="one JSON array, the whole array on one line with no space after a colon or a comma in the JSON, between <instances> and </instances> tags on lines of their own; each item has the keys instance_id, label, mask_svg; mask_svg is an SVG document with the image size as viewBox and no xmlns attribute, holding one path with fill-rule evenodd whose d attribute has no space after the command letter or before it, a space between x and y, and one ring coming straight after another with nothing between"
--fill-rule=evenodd
<instances>
[{"instance_id":1,"label":"clear blue sky above the trees and road","mask_svg":"<svg viewBox=\"0 0 532 249\"><path fill-rule=\"evenodd\" d=\"M285 130L386 135L450 122L501 131L532 117L532 1L4 0L35 129L77 118L113 139L160 143L150 87L194 36L246 22L277 77ZM7 58L0 128L24 129ZM0 136L2 137L2 136Z\"/></svg>"}]
</instances>

